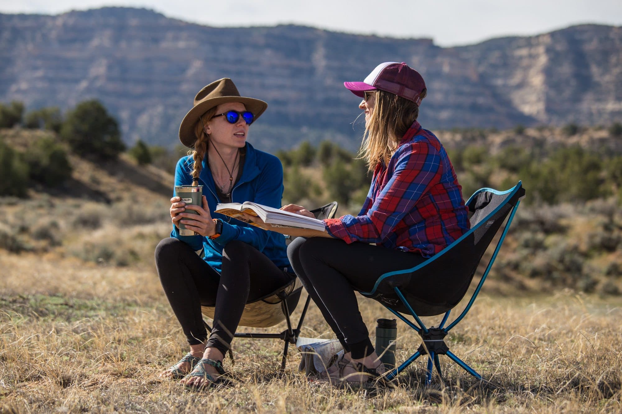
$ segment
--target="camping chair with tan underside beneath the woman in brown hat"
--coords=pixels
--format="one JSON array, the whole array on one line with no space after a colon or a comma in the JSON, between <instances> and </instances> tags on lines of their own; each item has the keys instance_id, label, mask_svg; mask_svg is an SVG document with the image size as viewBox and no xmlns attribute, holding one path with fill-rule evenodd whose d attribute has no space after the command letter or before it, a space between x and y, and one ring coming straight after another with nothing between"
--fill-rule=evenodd
<instances>
[{"instance_id":1,"label":"camping chair with tan underside beneath the woman in brown hat","mask_svg":"<svg viewBox=\"0 0 622 414\"><path fill-rule=\"evenodd\" d=\"M337 201L333 201L330 204L310 210L311 213L317 219L335 218L337 213ZM287 241L290 241L290 237L287 236ZM300 328L307 314L307 308L309 308L309 301L311 297L307 297L302 313L300 314L300 320L296 328L292 328L292 321L290 315L298 305L300 299L300 293L302 292L302 283L298 278L295 278L287 285L277 289L275 292L269 293L262 298L258 298L252 302L246 303L244 306L244 312L242 318L239 321L239 326L249 326L252 328L271 328L272 326L281 323L283 320L287 321L287 329L281 333L235 333L234 338L270 338L281 339L284 341L283 358L281 360L281 371L285 370L285 362L287 361L287 349L289 344L295 344L300 334ZM201 311L204 316L212 319L214 318L214 306L201 306ZM211 326L203 321L205 328L211 333ZM231 349L229 355L233 360L233 354Z\"/></svg>"}]
</instances>

